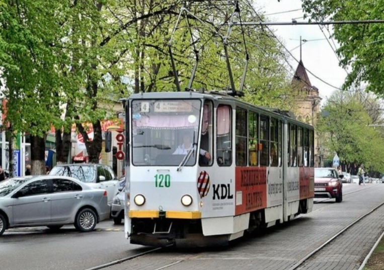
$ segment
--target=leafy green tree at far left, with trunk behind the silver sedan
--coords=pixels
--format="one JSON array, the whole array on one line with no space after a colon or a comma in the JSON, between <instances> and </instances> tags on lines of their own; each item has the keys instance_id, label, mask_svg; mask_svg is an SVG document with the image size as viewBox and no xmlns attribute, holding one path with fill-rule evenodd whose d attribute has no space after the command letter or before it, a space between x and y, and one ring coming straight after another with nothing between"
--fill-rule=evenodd
<instances>
[{"instance_id":1,"label":"leafy green tree at far left, with trunk behind the silver sedan","mask_svg":"<svg viewBox=\"0 0 384 270\"><path fill-rule=\"evenodd\" d=\"M61 37L61 7L53 1L0 1L0 62L7 86L2 110L11 139L15 132L31 135L32 173L45 171L44 138L57 111L52 105L60 55L51 44Z\"/></svg>"}]
</instances>

